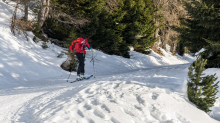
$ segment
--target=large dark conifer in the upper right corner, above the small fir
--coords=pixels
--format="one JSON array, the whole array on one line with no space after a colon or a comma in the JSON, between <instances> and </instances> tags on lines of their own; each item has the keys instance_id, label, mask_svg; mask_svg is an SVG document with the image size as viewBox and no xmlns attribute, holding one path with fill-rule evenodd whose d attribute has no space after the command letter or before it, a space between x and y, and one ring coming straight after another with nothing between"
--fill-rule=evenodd
<instances>
[{"instance_id":1,"label":"large dark conifer in the upper right corner, above the small fir","mask_svg":"<svg viewBox=\"0 0 220 123\"><path fill-rule=\"evenodd\" d=\"M206 50L201 54L207 59L207 67L220 67L220 1L191 0L185 2L189 18L183 19L180 32L180 42L196 53L201 48Z\"/></svg>"}]
</instances>

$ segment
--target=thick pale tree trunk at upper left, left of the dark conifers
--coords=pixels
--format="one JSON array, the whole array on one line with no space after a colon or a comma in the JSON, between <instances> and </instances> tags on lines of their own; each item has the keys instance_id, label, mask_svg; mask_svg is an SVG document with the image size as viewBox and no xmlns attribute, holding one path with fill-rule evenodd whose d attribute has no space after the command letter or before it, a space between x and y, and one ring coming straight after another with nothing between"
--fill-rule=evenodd
<instances>
[{"instance_id":1,"label":"thick pale tree trunk at upper left, left of the dark conifers","mask_svg":"<svg viewBox=\"0 0 220 123\"><path fill-rule=\"evenodd\" d=\"M50 5L50 0L41 0L41 7L38 13L38 23L40 24L40 27L43 26L44 21L46 20L49 14L49 5Z\"/></svg>"}]
</instances>

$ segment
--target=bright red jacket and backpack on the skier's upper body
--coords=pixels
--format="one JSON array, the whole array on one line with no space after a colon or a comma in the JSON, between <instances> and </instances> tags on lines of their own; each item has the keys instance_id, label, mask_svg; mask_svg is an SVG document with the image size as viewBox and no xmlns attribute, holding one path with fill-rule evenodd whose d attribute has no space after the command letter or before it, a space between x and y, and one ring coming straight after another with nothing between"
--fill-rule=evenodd
<instances>
[{"instance_id":1,"label":"bright red jacket and backpack on the skier's upper body","mask_svg":"<svg viewBox=\"0 0 220 123\"><path fill-rule=\"evenodd\" d=\"M85 47L89 47L89 43L87 39L83 39L82 37L77 38L70 45L70 50L73 51L75 49L76 53L84 53L86 54Z\"/></svg>"}]
</instances>

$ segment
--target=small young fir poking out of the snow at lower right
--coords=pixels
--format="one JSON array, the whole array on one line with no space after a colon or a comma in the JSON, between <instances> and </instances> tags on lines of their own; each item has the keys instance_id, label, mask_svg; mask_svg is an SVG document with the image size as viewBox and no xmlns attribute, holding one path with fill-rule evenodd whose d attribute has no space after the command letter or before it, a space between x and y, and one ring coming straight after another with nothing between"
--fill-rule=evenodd
<instances>
[{"instance_id":1,"label":"small young fir poking out of the snow at lower right","mask_svg":"<svg viewBox=\"0 0 220 123\"><path fill-rule=\"evenodd\" d=\"M207 60L198 57L197 60L189 67L188 72L188 98L199 109L210 112L210 107L214 106L214 103L218 97L218 83L215 83L217 77L214 75L207 75L202 77L204 66Z\"/></svg>"}]
</instances>

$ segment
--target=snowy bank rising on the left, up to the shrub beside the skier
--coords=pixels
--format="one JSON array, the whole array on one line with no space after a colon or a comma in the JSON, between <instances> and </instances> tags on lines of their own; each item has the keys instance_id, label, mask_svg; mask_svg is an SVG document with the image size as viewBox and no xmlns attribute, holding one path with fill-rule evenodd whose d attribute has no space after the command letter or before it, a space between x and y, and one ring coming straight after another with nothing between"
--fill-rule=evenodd
<instances>
[{"instance_id":1,"label":"snowy bank rising on the left, up to the shrub beside the skier","mask_svg":"<svg viewBox=\"0 0 220 123\"><path fill-rule=\"evenodd\" d=\"M13 6L0 1L0 88L62 74L62 60L56 58L61 48L50 45L50 50L43 50L40 43L33 42L32 33L28 33L29 41L11 33Z\"/></svg>"}]
</instances>

